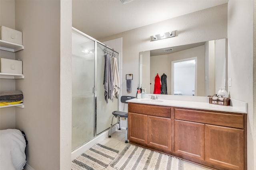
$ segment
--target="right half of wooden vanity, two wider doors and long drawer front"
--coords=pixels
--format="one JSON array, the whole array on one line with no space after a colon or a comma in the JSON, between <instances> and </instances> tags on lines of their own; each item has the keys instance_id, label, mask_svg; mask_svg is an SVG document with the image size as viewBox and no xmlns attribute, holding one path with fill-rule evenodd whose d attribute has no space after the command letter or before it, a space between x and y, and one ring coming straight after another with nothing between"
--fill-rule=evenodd
<instances>
[{"instance_id":1,"label":"right half of wooden vanity, two wider doors and long drawer front","mask_svg":"<svg viewBox=\"0 0 256 170\"><path fill-rule=\"evenodd\" d=\"M227 169L244 169L244 114L174 108L174 117L175 153Z\"/></svg>"}]
</instances>

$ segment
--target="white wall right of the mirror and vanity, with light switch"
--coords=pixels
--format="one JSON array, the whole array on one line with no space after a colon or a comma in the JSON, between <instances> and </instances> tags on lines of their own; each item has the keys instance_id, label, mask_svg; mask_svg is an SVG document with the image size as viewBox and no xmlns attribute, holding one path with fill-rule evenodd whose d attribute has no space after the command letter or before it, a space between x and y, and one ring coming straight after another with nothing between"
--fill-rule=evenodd
<instances>
[{"instance_id":1,"label":"white wall right of the mirror and vanity, with light switch","mask_svg":"<svg viewBox=\"0 0 256 170\"><path fill-rule=\"evenodd\" d=\"M246 25L246 26L245 26ZM242 33L238 36L237 33ZM247 115L247 168L255 169L253 135L253 1L228 2L228 87L230 97L248 103ZM255 140L255 139L254 139Z\"/></svg>"}]
</instances>

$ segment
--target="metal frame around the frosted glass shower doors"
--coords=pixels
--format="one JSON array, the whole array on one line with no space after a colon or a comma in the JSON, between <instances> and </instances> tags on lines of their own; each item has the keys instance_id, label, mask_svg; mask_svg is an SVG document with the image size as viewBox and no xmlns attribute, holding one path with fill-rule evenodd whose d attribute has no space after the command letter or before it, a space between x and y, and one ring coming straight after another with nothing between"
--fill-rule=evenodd
<instances>
[{"instance_id":1,"label":"metal frame around the frosted glass shower doors","mask_svg":"<svg viewBox=\"0 0 256 170\"><path fill-rule=\"evenodd\" d=\"M93 87L93 93L94 93L94 136L85 141L84 143L82 143L81 145L75 147L74 149L72 150L75 150L77 149L78 147L84 145L85 143L91 141L92 139L94 139L96 136L100 135L101 133L105 132L105 131L108 131L108 129L110 129L110 127L108 129L106 129L105 131L102 131L101 133L99 133L97 135L97 88L96 88L96 84L97 84L97 43L101 44L101 45L104 45L105 47L107 47L108 49L110 49L111 51L115 52L115 53L118 53L117 51L114 51L114 49L111 49L110 47L108 47L107 45L105 45L104 43L90 37L89 35L83 33L82 31L79 31L78 29L72 27L72 31L76 31L77 33L83 35L84 37L87 37L88 39L91 39L92 41L94 41L94 87ZM119 66L120 66L120 62L119 62L119 53L118 53L118 70L119 70ZM121 80L122 76L120 76L120 80ZM121 93L120 93L121 94ZM120 101L118 100L118 110L119 110L119 105L120 105Z\"/></svg>"}]
</instances>

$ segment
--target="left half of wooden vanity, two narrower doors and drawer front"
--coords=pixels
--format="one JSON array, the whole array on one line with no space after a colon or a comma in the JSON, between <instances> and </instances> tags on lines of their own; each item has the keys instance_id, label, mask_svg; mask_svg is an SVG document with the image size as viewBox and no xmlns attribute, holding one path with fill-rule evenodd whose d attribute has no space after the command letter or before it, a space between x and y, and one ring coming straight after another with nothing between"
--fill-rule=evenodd
<instances>
[{"instance_id":1,"label":"left half of wooden vanity, two narrower doors and drawer front","mask_svg":"<svg viewBox=\"0 0 256 170\"><path fill-rule=\"evenodd\" d=\"M170 107L129 104L128 139L144 146L170 151Z\"/></svg>"}]
</instances>

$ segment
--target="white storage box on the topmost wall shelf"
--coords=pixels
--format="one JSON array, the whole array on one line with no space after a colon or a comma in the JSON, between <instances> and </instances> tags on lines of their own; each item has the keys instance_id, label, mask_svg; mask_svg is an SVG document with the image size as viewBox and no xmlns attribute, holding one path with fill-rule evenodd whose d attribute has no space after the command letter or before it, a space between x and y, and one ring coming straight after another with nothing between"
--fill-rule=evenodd
<instances>
[{"instance_id":1,"label":"white storage box on the topmost wall shelf","mask_svg":"<svg viewBox=\"0 0 256 170\"><path fill-rule=\"evenodd\" d=\"M22 45L22 32L0 26L0 39Z\"/></svg>"}]
</instances>

